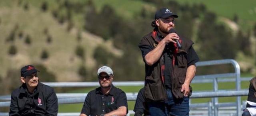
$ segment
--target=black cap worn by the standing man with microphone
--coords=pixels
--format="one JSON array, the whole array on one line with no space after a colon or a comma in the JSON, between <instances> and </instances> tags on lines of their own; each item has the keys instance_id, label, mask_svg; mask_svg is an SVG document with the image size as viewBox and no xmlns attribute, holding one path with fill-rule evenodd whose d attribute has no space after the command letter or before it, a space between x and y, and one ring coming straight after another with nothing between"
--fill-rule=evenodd
<instances>
[{"instance_id":1,"label":"black cap worn by the standing man with microphone","mask_svg":"<svg viewBox=\"0 0 256 116\"><path fill-rule=\"evenodd\" d=\"M170 16L173 16L174 18L178 18L178 15L173 14L169 9L162 8L162 9L156 11L155 20L157 20L159 18L168 18Z\"/></svg>"}]
</instances>

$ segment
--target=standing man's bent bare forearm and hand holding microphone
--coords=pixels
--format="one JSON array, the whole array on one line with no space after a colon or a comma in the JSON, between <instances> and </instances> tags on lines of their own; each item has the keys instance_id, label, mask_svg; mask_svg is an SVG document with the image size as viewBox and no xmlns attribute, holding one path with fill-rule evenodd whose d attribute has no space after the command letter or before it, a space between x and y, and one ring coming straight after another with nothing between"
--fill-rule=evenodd
<instances>
[{"instance_id":1,"label":"standing man's bent bare forearm and hand holding microphone","mask_svg":"<svg viewBox=\"0 0 256 116\"><path fill-rule=\"evenodd\" d=\"M150 66L156 63L156 61L160 59L165 45L170 42L176 43L173 39L179 39L179 36L176 33L170 33L166 35L166 37L164 37L164 39L158 43L156 48L154 48L145 56L145 62Z\"/></svg>"}]
</instances>

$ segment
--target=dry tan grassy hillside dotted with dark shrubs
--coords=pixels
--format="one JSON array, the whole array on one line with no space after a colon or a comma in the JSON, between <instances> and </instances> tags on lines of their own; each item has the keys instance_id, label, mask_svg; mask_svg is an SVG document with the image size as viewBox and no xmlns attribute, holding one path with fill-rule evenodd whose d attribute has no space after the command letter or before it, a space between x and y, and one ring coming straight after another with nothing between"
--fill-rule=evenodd
<instances>
[{"instance_id":1,"label":"dry tan grassy hillside dotted with dark shrubs","mask_svg":"<svg viewBox=\"0 0 256 116\"><path fill-rule=\"evenodd\" d=\"M84 65L88 70L94 67L95 61L92 58L94 48L102 45L104 40L87 31L82 31L82 39L77 41L78 28L74 27L67 31L68 24L60 24L54 19L51 12L42 12L38 6L34 6L32 3L29 3L28 10L24 10L21 7L23 5L18 6L17 4L18 1L1 1L1 77L6 77L8 69L19 70L25 64L42 63L58 77L58 81L80 81L80 76L77 73L79 66ZM14 29L16 30L14 33L15 39L6 41L6 38ZM45 29L48 30L47 34L44 32ZM18 37L20 32L23 33L22 37ZM51 43L47 43L48 35L52 37ZM30 45L25 43L27 36L30 37ZM17 47L16 55L8 55L11 45ZM75 50L78 45L84 49L85 59L76 56ZM112 47L111 41L107 41L103 46L113 49L115 54L120 53ZM46 60L40 58L43 50L49 53L49 58Z\"/></svg>"}]
</instances>

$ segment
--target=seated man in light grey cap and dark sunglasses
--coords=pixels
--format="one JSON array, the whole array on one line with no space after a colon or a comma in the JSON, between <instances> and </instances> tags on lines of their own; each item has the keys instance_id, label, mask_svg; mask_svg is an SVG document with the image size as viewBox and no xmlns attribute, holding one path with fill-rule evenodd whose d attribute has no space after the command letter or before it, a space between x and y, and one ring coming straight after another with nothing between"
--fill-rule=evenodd
<instances>
[{"instance_id":1,"label":"seated man in light grey cap and dark sunglasses","mask_svg":"<svg viewBox=\"0 0 256 116\"><path fill-rule=\"evenodd\" d=\"M100 87L87 94L80 116L125 116L128 113L126 94L112 85L113 79L110 67L98 69Z\"/></svg>"}]
</instances>

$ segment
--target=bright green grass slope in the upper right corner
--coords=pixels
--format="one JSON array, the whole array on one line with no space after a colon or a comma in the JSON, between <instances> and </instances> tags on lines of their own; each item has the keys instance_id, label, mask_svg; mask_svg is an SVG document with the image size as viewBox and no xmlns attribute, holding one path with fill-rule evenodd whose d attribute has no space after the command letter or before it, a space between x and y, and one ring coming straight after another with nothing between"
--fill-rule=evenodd
<instances>
[{"instance_id":1,"label":"bright green grass slope in the upper right corner","mask_svg":"<svg viewBox=\"0 0 256 116\"><path fill-rule=\"evenodd\" d=\"M206 9L233 20L234 15L238 16L238 25L242 29L252 28L256 20L255 0L176 0L180 4L205 4Z\"/></svg>"}]
</instances>

